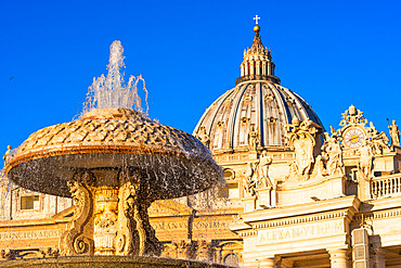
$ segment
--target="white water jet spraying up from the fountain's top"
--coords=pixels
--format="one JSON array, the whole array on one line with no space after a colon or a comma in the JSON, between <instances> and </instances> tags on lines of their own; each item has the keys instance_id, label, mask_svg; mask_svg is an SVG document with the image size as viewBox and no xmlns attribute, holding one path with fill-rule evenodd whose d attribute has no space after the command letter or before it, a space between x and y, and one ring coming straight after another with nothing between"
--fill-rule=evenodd
<instances>
[{"instance_id":1,"label":"white water jet spraying up from the fountain's top","mask_svg":"<svg viewBox=\"0 0 401 268\"><path fill-rule=\"evenodd\" d=\"M109 48L108 74L105 77L103 74L94 78L93 84L88 89L87 100L83 103L83 113L94 109L133 109L138 112L147 114L147 90L145 80L141 75L138 77L131 75L128 84L124 81L124 48L121 42L115 40ZM138 94L138 84L142 81L142 88L145 92L145 106L143 111L141 98Z\"/></svg>"}]
</instances>

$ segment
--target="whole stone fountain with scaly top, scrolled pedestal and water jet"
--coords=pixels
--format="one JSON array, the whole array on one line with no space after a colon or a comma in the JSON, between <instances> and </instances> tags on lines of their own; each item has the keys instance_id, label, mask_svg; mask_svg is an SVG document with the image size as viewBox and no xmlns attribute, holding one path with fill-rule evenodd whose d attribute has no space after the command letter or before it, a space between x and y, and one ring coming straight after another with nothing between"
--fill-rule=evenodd
<instances>
[{"instance_id":1,"label":"whole stone fountain with scaly top, scrolled pedestal and water jet","mask_svg":"<svg viewBox=\"0 0 401 268\"><path fill-rule=\"evenodd\" d=\"M82 115L30 135L7 155L5 173L29 190L73 197L74 215L60 240L60 253L66 257L59 257L57 264L181 267L186 261L185 267L204 267L154 258L163 245L147 208L158 199L209 189L222 177L221 168L196 138L146 116L138 94L138 82L144 80L131 76L125 85L122 51L114 41L108 74L89 87ZM37 260L39 266L50 263Z\"/></svg>"}]
</instances>

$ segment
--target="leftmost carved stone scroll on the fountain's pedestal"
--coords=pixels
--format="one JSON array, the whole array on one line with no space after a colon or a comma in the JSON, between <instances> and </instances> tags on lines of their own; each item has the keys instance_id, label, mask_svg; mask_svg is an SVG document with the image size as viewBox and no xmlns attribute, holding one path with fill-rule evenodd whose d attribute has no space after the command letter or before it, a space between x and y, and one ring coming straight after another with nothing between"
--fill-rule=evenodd
<instances>
[{"instance_id":1,"label":"leftmost carved stone scroll on the fountain's pedestal","mask_svg":"<svg viewBox=\"0 0 401 268\"><path fill-rule=\"evenodd\" d=\"M93 254L93 194L91 186L95 177L90 171L77 171L68 181L75 209L74 218L67 224L60 240L61 255Z\"/></svg>"}]
</instances>

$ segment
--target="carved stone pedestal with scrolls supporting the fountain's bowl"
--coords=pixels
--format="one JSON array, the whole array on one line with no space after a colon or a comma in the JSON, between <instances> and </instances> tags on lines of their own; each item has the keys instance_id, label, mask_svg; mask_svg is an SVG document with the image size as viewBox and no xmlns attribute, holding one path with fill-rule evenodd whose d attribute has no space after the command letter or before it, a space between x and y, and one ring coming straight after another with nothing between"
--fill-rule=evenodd
<instances>
[{"instance_id":1,"label":"carved stone pedestal with scrolls supporting the fountain's bowl","mask_svg":"<svg viewBox=\"0 0 401 268\"><path fill-rule=\"evenodd\" d=\"M138 170L116 171L120 187L94 187L91 170L68 181L75 210L60 241L62 255L160 255L163 245L147 217L155 200L148 180Z\"/></svg>"}]
</instances>

